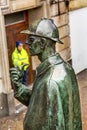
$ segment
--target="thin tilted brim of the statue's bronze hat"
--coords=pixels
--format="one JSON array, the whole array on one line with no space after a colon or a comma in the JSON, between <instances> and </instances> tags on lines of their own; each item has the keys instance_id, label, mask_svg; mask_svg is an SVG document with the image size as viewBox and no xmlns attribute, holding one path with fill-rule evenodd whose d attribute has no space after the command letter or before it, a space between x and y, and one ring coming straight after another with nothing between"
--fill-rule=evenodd
<instances>
[{"instance_id":1,"label":"thin tilted brim of the statue's bronze hat","mask_svg":"<svg viewBox=\"0 0 87 130\"><path fill-rule=\"evenodd\" d=\"M53 40L53 41L56 41L56 42L58 42L58 43L60 43L60 44L63 44L63 42L60 41L59 39L50 38L50 37L46 37L46 36L41 36L41 35L39 35L39 34L35 34L34 32L31 32L31 31L29 31L29 30L23 30L23 31L21 31L20 33L28 34L28 35L32 35L32 36L38 36L38 37L48 38L48 39L51 39L51 40Z\"/></svg>"}]
</instances>

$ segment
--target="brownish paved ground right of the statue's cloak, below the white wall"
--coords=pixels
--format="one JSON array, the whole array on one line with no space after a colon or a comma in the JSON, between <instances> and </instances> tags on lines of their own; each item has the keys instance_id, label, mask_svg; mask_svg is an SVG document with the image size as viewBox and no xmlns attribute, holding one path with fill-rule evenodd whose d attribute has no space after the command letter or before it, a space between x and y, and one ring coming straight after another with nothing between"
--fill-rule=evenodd
<instances>
[{"instance_id":1,"label":"brownish paved ground right of the statue's cloak, below the white wall","mask_svg":"<svg viewBox=\"0 0 87 130\"><path fill-rule=\"evenodd\" d=\"M81 111L82 111L82 130L87 130L87 70L81 72L78 76Z\"/></svg>"}]
</instances>

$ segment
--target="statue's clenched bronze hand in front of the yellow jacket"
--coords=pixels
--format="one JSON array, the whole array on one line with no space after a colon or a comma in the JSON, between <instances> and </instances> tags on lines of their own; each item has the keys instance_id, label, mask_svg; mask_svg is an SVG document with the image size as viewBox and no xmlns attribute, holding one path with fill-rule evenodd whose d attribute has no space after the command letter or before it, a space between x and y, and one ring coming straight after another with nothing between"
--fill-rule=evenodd
<instances>
[{"instance_id":1,"label":"statue's clenched bronze hand in front of the yellow jacket","mask_svg":"<svg viewBox=\"0 0 87 130\"><path fill-rule=\"evenodd\" d=\"M10 69L10 78L13 83L21 82L23 77L23 71L18 67Z\"/></svg>"}]
</instances>

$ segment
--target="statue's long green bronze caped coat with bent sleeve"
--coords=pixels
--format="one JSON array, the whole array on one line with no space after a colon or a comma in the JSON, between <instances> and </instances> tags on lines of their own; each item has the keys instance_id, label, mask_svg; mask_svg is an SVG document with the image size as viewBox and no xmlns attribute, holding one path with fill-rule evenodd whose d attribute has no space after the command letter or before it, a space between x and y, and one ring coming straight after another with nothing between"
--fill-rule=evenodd
<instances>
[{"instance_id":1,"label":"statue's long green bronze caped coat with bent sleeve","mask_svg":"<svg viewBox=\"0 0 87 130\"><path fill-rule=\"evenodd\" d=\"M39 65L32 92L19 84L15 97L28 106L24 130L82 130L76 76L59 54Z\"/></svg>"}]
</instances>

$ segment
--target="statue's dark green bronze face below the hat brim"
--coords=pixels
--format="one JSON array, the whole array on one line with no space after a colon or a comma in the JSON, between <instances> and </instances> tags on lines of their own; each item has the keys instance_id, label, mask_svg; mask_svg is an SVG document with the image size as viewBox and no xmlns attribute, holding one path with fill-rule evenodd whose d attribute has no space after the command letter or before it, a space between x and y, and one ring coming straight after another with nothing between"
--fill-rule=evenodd
<instances>
[{"instance_id":1,"label":"statue's dark green bronze face below the hat brim","mask_svg":"<svg viewBox=\"0 0 87 130\"><path fill-rule=\"evenodd\" d=\"M40 54L42 52L41 38L36 36L29 36L28 46L30 49L31 56Z\"/></svg>"}]
</instances>

